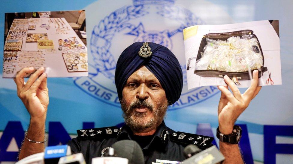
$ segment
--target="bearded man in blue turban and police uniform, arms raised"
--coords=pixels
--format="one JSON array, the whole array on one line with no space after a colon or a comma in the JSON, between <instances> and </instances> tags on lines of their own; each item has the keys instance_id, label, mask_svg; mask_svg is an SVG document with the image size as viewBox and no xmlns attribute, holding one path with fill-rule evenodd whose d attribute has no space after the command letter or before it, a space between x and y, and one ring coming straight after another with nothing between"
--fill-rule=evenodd
<instances>
[{"instance_id":1,"label":"bearded man in blue turban and police uniform, arms raised","mask_svg":"<svg viewBox=\"0 0 293 164\"><path fill-rule=\"evenodd\" d=\"M44 68L37 70L24 84L23 77L33 71L24 68L17 75L17 93L28 109L31 120L20 159L44 149L44 128L49 104L47 77ZM241 94L236 85L224 76L228 86L222 91L219 107L220 151L224 163L243 163L238 143L241 128L234 125L249 102L258 94L258 71L253 71L251 86ZM125 119L124 126L78 130L78 137L68 142L73 153L82 152L87 163L94 157L103 157L111 145L119 140L135 140L143 150L145 163L156 160L182 161L186 145L209 148L213 137L175 132L164 123L168 105L181 95L183 74L174 54L162 45L135 42L119 56L115 84Z\"/></svg>"}]
</instances>

